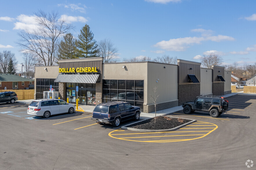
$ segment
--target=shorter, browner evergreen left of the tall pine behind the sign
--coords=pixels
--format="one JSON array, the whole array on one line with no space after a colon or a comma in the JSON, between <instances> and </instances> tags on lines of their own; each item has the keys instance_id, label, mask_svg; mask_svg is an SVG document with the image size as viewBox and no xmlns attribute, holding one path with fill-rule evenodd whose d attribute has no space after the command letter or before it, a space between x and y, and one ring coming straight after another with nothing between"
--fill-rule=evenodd
<instances>
[{"instance_id":1,"label":"shorter, browner evergreen left of the tall pine behind the sign","mask_svg":"<svg viewBox=\"0 0 256 170\"><path fill-rule=\"evenodd\" d=\"M63 36L63 40L58 45L57 59L71 59L77 57L77 40L73 38L71 33Z\"/></svg>"}]
</instances>

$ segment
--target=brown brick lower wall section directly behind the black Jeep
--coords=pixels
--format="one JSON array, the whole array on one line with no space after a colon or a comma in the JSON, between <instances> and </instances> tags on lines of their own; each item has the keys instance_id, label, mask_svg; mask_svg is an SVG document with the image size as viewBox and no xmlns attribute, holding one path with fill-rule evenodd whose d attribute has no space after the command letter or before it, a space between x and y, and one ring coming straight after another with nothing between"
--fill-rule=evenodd
<instances>
[{"instance_id":1,"label":"brown brick lower wall section directly behind the black Jeep","mask_svg":"<svg viewBox=\"0 0 256 170\"><path fill-rule=\"evenodd\" d=\"M224 88L224 85L223 85ZM179 106L186 101L194 101L200 95L200 83L182 83L178 87Z\"/></svg>"}]
</instances>

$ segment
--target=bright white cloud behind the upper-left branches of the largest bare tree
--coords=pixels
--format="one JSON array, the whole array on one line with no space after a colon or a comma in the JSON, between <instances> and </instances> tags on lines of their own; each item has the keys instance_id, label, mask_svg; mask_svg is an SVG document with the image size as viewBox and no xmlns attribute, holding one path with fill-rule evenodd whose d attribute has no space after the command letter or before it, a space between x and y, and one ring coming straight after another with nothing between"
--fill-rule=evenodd
<instances>
[{"instance_id":1,"label":"bright white cloud behind the upper-left branches of the largest bare tree","mask_svg":"<svg viewBox=\"0 0 256 170\"><path fill-rule=\"evenodd\" d=\"M14 23L13 29L28 29L29 31L33 31L34 29L37 29L39 26L37 25L35 21L36 16L28 16L24 14L20 14L17 17L17 20L19 22Z\"/></svg>"}]
</instances>

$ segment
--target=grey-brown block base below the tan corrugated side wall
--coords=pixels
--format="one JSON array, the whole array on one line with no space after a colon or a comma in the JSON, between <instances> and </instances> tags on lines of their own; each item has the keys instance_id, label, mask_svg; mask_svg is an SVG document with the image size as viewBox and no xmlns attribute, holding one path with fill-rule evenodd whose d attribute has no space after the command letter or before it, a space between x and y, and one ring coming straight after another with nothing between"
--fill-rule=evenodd
<instances>
[{"instance_id":1,"label":"grey-brown block base below the tan corrugated side wall","mask_svg":"<svg viewBox=\"0 0 256 170\"><path fill-rule=\"evenodd\" d=\"M170 102L166 102L166 103L159 103L156 106L156 110L164 110L164 109L168 109L168 108L172 108L178 106L178 100L176 101L170 101ZM141 112L144 113L150 113L150 112L155 112L155 105L144 105L143 106L143 110L141 110Z\"/></svg>"}]
</instances>

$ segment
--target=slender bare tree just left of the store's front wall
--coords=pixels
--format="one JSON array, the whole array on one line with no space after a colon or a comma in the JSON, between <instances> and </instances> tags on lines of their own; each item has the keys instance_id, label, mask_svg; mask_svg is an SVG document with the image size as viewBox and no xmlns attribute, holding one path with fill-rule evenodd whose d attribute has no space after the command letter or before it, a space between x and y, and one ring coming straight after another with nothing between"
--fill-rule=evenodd
<instances>
[{"instance_id":1,"label":"slender bare tree just left of the store's front wall","mask_svg":"<svg viewBox=\"0 0 256 170\"><path fill-rule=\"evenodd\" d=\"M36 56L34 53L23 53L24 68L27 77L31 74L32 70L35 68Z\"/></svg>"}]
</instances>

